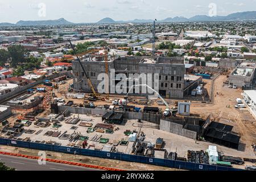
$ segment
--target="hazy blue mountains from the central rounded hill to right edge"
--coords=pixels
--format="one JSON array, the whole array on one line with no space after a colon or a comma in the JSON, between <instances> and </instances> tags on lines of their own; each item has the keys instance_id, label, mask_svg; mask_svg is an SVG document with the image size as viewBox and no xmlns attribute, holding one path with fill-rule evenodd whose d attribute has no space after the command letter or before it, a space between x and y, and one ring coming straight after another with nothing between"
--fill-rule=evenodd
<instances>
[{"instance_id":1,"label":"hazy blue mountains from the central rounded hill to right edge","mask_svg":"<svg viewBox=\"0 0 256 182\"><path fill-rule=\"evenodd\" d=\"M185 18L183 16L175 16L174 18L166 18L158 20L158 22L213 22L213 21L228 21L228 20L256 20L256 11L245 11L241 13L233 13L227 16L207 16L207 15L196 15L191 18ZM152 19L134 19L128 21L115 21L111 18L104 18L97 23L150 23Z\"/></svg>"}]
</instances>

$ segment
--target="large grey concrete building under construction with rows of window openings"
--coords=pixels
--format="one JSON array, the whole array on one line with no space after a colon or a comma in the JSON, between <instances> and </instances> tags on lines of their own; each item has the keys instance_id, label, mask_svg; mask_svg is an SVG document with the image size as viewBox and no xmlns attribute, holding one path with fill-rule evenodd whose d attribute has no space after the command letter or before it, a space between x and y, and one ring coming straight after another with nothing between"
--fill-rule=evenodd
<instances>
[{"instance_id":1,"label":"large grey concrete building under construction with rows of window openings","mask_svg":"<svg viewBox=\"0 0 256 182\"><path fill-rule=\"evenodd\" d=\"M82 90L84 92L91 92L90 86L85 79L85 74L78 61L73 61L73 85L74 90ZM101 80L97 80L100 73L105 73L106 67L102 57L88 58L81 61L85 68L86 75L92 81L94 88L97 90L98 84ZM110 59L108 61L109 70L109 90L110 83L113 81L117 85L120 80L118 78L110 77L110 71L114 69L115 75L123 73L129 78L130 74L153 74L158 73L159 80L159 94L166 98L183 98L185 88L185 65L183 57L119 57L117 59ZM114 79L114 80L113 80ZM152 76L152 87L155 84L156 77ZM134 81L132 79L132 81ZM112 82L112 83L113 83ZM134 81L135 84L135 81ZM137 83L136 83L137 84ZM139 84L142 84L141 81ZM148 84L148 82L147 82ZM127 86L129 84L127 83ZM133 84L132 84L133 85ZM113 84L112 84L113 86ZM129 88L127 88L128 92ZM110 91L109 91L110 92ZM111 93L111 92L110 92ZM139 93L143 95L142 93Z\"/></svg>"}]
</instances>

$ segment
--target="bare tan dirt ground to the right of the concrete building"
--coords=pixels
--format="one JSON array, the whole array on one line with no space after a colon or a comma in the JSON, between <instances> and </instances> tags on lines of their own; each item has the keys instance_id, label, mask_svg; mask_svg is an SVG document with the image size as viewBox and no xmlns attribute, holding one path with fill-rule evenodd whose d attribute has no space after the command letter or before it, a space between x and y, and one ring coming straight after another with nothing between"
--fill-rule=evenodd
<instances>
[{"instance_id":1,"label":"bare tan dirt ground to the right of the concrete building","mask_svg":"<svg viewBox=\"0 0 256 182\"><path fill-rule=\"evenodd\" d=\"M202 117L212 114L216 121L234 126L233 130L241 136L241 142L246 144L246 148L251 148L251 144L256 142L256 121L248 109L234 107L236 98L242 98L242 90L223 85L226 80L226 76L221 75L214 81L213 104L192 104L191 112Z\"/></svg>"}]
</instances>

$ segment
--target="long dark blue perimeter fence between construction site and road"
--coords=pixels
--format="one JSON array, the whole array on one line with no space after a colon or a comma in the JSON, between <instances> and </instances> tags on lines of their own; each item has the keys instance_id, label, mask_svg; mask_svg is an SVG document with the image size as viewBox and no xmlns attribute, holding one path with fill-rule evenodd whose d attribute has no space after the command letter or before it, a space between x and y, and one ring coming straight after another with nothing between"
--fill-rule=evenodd
<instances>
[{"instance_id":1,"label":"long dark blue perimeter fence between construction site and road","mask_svg":"<svg viewBox=\"0 0 256 182\"><path fill-rule=\"evenodd\" d=\"M0 144L5 146L31 148L31 149L43 150L43 151L62 152L66 154L85 155L85 156L92 156L92 157L104 158L104 159L123 160L127 162L144 163L144 164L151 164L155 166L164 166L164 167L186 169L186 170L243 171L243 169L237 169L232 167L215 166L215 165L209 165L209 164L197 164L197 163L184 162L179 160L150 158L146 156L89 150L84 148L55 146L52 144L24 142L20 140L11 140L11 139L5 139L5 138L0 138Z\"/></svg>"}]
</instances>

